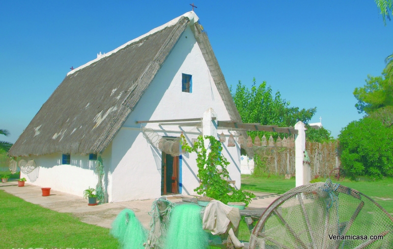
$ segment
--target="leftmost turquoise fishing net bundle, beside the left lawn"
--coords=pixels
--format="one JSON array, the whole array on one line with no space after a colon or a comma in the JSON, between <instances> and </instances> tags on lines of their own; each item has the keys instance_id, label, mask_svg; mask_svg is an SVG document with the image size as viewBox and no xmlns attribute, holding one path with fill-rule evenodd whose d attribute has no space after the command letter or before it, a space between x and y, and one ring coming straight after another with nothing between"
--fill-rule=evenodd
<instances>
[{"instance_id":1,"label":"leftmost turquoise fishing net bundle, beside the left lawn","mask_svg":"<svg viewBox=\"0 0 393 249\"><path fill-rule=\"evenodd\" d=\"M122 249L144 249L147 230L131 209L124 209L117 215L110 233L119 240Z\"/></svg>"}]
</instances>

